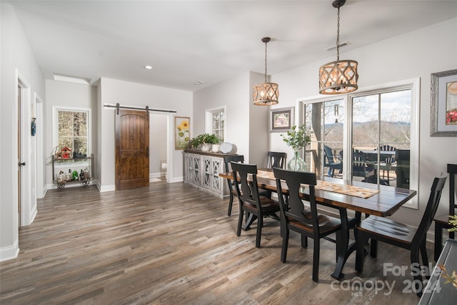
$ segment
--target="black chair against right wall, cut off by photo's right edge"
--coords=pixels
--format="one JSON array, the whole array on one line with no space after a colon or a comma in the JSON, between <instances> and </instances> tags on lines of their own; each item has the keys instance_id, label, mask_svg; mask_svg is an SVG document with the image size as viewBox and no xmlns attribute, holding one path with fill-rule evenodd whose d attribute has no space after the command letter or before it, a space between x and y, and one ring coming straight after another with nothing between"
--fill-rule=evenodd
<instances>
[{"instance_id":1,"label":"black chair against right wall, cut off by photo's right edge","mask_svg":"<svg viewBox=\"0 0 457 305\"><path fill-rule=\"evenodd\" d=\"M451 229L449 224L449 216L456 215L456 175L457 175L457 164L448 164L449 174L449 209L448 213L440 214L435 216L435 249L434 256L435 261L438 261L438 257L441 254L441 247L443 246L443 229ZM449 238L454 239L454 232L449 231Z\"/></svg>"}]
</instances>

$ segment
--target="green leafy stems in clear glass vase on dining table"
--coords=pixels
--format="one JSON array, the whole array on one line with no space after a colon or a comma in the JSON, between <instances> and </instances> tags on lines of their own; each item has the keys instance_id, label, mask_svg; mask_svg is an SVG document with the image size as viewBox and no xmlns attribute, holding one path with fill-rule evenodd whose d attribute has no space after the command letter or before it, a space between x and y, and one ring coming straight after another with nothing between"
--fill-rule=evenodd
<instances>
[{"instance_id":1,"label":"green leafy stems in clear glass vase on dining table","mask_svg":"<svg viewBox=\"0 0 457 305\"><path fill-rule=\"evenodd\" d=\"M300 149L311 142L311 133L305 125L292 126L286 134L281 134L283 141L293 149L293 158L287 162L287 169L291 171L306 171L306 163L300 156Z\"/></svg>"}]
</instances>

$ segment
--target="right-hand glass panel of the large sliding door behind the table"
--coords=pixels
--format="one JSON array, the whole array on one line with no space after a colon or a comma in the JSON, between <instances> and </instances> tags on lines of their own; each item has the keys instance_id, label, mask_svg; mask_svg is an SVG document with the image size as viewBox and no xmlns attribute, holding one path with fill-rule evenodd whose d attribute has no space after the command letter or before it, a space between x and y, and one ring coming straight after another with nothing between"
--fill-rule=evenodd
<instances>
[{"instance_id":1,"label":"right-hand glass panel of the large sliding door behind the table","mask_svg":"<svg viewBox=\"0 0 457 305\"><path fill-rule=\"evenodd\" d=\"M351 107L353 178L409 189L409 172L398 161L410 167L411 89L354 96Z\"/></svg>"}]
</instances>

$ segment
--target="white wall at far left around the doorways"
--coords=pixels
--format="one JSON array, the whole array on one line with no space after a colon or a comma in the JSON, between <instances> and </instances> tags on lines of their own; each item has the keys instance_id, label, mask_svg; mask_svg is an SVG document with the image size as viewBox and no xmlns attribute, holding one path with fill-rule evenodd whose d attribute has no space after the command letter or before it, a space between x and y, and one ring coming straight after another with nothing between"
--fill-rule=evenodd
<instances>
[{"instance_id":1,"label":"white wall at far left around the doorways","mask_svg":"<svg viewBox=\"0 0 457 305\"><path fill-rule=\"evenodd\" d=\"M1 103L0 103L0 261L11 259L19 253L19 217L18 217L18 187L17 187L17 71L26 79L29 85L29 103L33 102L34 94L38 94L43 101L44 76L39 68L34 53L26 38L16 13L10 4L0 4L0 31L1 31ZM24 126L30 126L31 104L24 107ZM43 124L43 121L37 122ZM29 127L30 128L30 127ZM27 161L36 155L34 139L31 139L30 129L24 131L26 142ZM33 162L32 162L33 163ZM31 181L36 181L36 173L30 166L25 167L24 174ZM33 179L32 177L33 176ZM34 186L28 186L34 187ZM26 197L31 196L31 189L27 190ZM36 210L36 202L29 202L29 208ZM28 211L29 212L29 211Z\"/></svg>"}]
</instances>

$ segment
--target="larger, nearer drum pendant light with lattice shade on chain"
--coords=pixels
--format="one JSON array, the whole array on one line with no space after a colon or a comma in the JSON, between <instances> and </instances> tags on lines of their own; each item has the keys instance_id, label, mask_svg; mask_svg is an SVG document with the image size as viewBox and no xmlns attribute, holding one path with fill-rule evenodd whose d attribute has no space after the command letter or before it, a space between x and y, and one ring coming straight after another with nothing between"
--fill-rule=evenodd
<instances>
[{"instance_id":1,"label":"larger, nearer drum pendant light with lattice shade on chain","mask_svg":"<svg viewBox=\"0 0 457 305\"><path fill-rule=\"evenodd\" d=\"M340 7L346 0L333 1L333 7L338 9L338 31L336 35L336 61L324 64L319 69L319 93L321 94L346 94L356 91L358 62L353 60L340 60Z\"/></svg>"}]
</instances>

